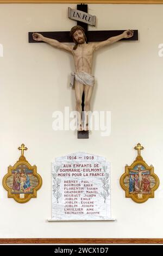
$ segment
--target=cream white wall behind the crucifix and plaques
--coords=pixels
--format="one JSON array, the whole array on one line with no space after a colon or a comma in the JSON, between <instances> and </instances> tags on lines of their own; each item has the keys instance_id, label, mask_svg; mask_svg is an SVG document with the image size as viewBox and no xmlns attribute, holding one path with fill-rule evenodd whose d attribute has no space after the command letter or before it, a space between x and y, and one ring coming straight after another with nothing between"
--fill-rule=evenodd
<instances>
[{"instance_id":1,"label":"cream white wall behind the crucifix and plaques","mask_svg":"<svg viewBox=\"0 0 163 256\"><path fill-rule=\"evenodd\" d=\"M53 131L52 113L74 109L74 91L68 86L73 70L70 54L45 44L29 44L29 31L68 31L76 22L67 7L76 4L1 4L0 44L0 180L20 152L36 164L43 185L37 198L18 204L0 187L1 237L162 237L163 5L89 4L97 16L91 29L139 29L139 41L117 42L95 54L96 87L92 109L111 111L111 135L93 131L78 140L72 131ZM120 176L135 160L138 143L142 156L155 167L160 186L154 199L137 204L125 198ZM105 156L111 161L112 217L117 222L47 222L51 218L51 161L76 151Z\"/></svg>"}]
</instances>

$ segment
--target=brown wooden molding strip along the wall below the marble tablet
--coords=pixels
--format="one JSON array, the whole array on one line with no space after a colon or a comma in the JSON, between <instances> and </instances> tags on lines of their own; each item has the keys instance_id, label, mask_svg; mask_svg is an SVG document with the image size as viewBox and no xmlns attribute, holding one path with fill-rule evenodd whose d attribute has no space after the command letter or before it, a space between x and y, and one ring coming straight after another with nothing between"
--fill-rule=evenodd
<instances>
[{"instance_id":1,"label":"brown wooden molding strip along the wall below the marble tablet","mask_svg":"<svg viewBox=\"0 0 163 256\"><path fill-rule=\"evenodd\" d=\"M163 243L162 238L1 238L0 243Z\"/></svg>"}]
</instances>

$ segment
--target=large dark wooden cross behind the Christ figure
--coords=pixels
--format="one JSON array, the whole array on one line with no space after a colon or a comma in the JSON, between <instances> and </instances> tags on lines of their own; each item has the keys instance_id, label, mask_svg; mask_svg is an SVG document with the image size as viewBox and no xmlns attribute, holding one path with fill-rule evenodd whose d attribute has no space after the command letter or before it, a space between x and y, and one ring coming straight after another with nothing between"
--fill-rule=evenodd
<instances>
[{"instance_id":1,"label":"large dark wooden cross behind the Christ figure","mask_svg":"<svg viewBox=\"0 0 163 256\"><path fill-rule=\"evenodd\" d=\"M87 4L77 4L77 10L84 11L87 13ZM87 42L99 42L104 41L111 36L116 36L122 34L125 30L116 30L116 31L88 31L87 24L77 21L77 25L82 26L85 29L85 35L87 38ZM47 38L52 38L58 40L59 42L73 42L70 37L70 31L62 31L62 32L37 32L42 34ZM33 32L29 32L29 42L39 43L42 41L36 41L32 36ZM134 30L134 35L131 38L123 38L121 40L130 40L135 41L138 40L138 31ZM84 93L82 97L82 112L84 111ZM78 138L89 138L89 131L78 131Z\"/></svg>"}]
</instances>

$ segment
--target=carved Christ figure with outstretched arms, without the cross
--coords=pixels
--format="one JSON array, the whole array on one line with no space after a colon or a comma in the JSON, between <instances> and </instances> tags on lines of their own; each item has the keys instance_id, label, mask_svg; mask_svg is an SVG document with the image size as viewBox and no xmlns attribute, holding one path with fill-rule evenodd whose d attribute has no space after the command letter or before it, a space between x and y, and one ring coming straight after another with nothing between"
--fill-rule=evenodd
<instances>
[{"instance_id":1,"label":"carved Christ figure with outstretched arms, without the cross","mask_svg":"<svg viewBox=\"0 0 163 256\"><path fill-rule=\"evenodd\" d=\"M76 68L75 72L75 94L76 94L76 111L78 113L77 130L88 131L89 130L89 118L88 114L84 118L84 124L82 121L82 95L84 92L84 113L90 111L90 101L95 84L95 78L91 74L93 52L99 48L113 44L121 40L122 38L131 38L133 36L133 30L124 31L122 34L112 36L105 41L86 43L86 36L84 28L81 26L74 26L71 29L70 36L74 41L75 45L65 44L55 39L46 38L39 33L33 33L33 39L36 41L47 42L49 45L57 47L59 49L66 50L73 55L74 65Z\"/></svg>"}]
</instances>

